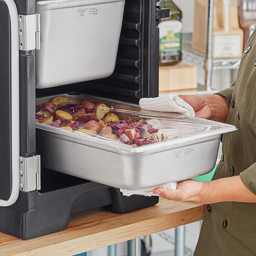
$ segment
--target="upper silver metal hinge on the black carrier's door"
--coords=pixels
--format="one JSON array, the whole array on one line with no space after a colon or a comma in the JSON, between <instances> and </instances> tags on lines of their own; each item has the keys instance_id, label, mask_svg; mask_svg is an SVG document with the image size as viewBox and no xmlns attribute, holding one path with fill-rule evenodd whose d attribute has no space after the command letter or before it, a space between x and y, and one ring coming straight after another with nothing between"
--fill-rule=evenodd
<instances>
[{"instance_id":1,"label":"upper silver metal hinge on the black carrier's door","mask_svg":"<svg viewBox=\"0 0 256 256\"><path fill-rule=\"evenodd\" d=\"M40 14L18 15L18 22L20 50L40 49Z\"/></svg>"}]
</instances>

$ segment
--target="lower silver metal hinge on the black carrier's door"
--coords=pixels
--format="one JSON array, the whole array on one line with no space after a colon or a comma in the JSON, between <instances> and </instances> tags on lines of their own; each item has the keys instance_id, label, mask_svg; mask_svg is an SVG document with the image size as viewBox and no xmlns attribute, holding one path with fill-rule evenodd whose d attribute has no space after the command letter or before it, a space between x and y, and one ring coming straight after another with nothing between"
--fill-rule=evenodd
<instances>
[{"instance_id":1,"label":"lower silver metal hinge on the black carrier's door","mask_svg":"<svg viewBox=\"0 0 256 256\"><path fill-rule=\"evenodd\" d=\"M41 189L41 157L20 157L20 190Z\"/></svg>"}]
</instances>

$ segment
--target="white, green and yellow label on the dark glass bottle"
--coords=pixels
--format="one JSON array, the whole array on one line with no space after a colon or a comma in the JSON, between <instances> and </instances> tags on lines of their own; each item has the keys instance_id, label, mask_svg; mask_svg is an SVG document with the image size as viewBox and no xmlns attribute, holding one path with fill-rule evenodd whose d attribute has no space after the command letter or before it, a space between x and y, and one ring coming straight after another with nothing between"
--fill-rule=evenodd
<instances>
[{"instance_id":1,"label":"white, green and yellow label on the dark glass bottle","mask_svg":"<svg viewBox=\"0 0 256 256\"><path fill-rule=\"evenodd\" d=\"M158 24L159 51L180 52L182 22L179 20L165 20Z\"/></svg>"}]
</instances>

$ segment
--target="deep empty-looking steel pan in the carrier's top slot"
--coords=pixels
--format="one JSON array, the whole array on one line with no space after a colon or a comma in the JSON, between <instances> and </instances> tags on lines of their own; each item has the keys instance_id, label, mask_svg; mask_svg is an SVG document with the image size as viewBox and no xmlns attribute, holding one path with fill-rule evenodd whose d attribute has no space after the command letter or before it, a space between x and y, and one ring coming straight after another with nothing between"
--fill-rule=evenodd
<instances>
[{"instance_id":1,"label":"deep empty-looking steel pan in the carrier's top slot","mask_svg":"<svg viewBox=\"0 0 256 256\"><path fill-rule=\"evenodd\" d=\"M38 0L41 49L36 87L108 77L113 73L125 0Z\"/></svg>"}]
</instances>

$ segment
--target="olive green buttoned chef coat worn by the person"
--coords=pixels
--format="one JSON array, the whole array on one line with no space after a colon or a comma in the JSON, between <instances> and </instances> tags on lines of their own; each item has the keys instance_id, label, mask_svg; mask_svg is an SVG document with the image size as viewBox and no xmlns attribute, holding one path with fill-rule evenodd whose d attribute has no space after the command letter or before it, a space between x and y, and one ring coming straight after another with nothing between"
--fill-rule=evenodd
<instances>
[{"instance_id":1,"label":"olive green buttoned chef coat worn by the person","mask_svg":"<svg viewBox=\"0 0 256 256\"><path fill-rule=\"evenodd\" d=\"M217 93L229 106L227 123L238 131L224 134L214 180L240 175L256 195L256 31L245 47L236 81ZM207 205L195 256L256 256L256 204Z\"/></svg>"}]
</instances>

